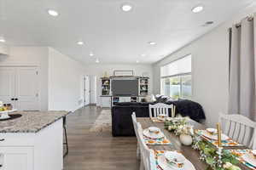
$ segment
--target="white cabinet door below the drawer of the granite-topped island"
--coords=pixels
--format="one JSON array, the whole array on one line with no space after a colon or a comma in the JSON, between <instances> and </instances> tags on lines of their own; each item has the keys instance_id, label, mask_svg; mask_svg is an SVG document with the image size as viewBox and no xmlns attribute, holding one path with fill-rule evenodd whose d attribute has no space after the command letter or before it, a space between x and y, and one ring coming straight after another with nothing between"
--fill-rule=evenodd
<instances>
[{"instance_id":1,"label":"white cabinet door below the drawer of the granite-topped island","mask_svg":"<svg viewBox=\"0 0 256 170\"><path fill-rule=\"evenodd\" d=\"M0 147L0 170L33 170L32 147Z\"/></svg>"}]
</instances>

